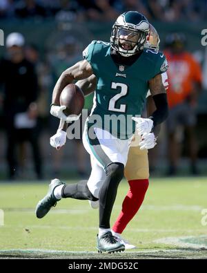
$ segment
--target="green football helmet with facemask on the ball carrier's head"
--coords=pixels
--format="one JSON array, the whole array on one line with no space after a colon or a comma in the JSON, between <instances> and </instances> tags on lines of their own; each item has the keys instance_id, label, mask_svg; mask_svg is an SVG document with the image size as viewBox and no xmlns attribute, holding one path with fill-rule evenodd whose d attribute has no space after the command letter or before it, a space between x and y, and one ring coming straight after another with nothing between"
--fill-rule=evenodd
<instances>
[{"instance_id":1,"label":"green football helmet with facemask on the ball carrier's head","mask_svg":"<svg viewBox=\"0 0 207 273\"><path fill-rule=\"evenodd\" d=\"M144 49L150 25L144 15L137 11L119 15L112 26L110 46L124 57L129 57Z\"/></svg>"}]
</instances>

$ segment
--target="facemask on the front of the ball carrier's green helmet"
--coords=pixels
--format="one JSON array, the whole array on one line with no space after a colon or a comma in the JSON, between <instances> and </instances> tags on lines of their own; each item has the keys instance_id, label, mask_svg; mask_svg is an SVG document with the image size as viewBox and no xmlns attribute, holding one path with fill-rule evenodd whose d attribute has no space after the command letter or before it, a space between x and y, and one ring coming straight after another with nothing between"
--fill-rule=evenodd
<instances>
[{"instance_id":1,"label":"facemask on the front of the ball carrier's green helmet","mask_svg":"<svg viewBox=\"0 0 207 273\"><path fill-rule=\"evenodd\" d=\"M137 30L132 26L119 26L115 24L110 37L111 47L124 57L139 53L144 49L148 32Z\"/></svg>"}]
</instances>

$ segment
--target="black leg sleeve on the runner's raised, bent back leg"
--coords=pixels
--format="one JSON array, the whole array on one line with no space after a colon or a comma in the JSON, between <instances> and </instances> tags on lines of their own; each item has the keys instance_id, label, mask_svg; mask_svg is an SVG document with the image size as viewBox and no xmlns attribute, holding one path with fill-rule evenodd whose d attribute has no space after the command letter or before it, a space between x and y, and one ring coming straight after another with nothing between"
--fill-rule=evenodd
<instances>
[{"instance_id":1,"label":"black leg sleeve on the runner's raised, bent back leg","mask_svg":"<svg viewBox=\"0 0 207 273\"><path fill-rule=\"evenodd\" d=\"M87 186L87 180L79 181L77 184L65 185L61 191L62 198L75 198L79 200L97 201Z\"/></svg>"}]
</instances>

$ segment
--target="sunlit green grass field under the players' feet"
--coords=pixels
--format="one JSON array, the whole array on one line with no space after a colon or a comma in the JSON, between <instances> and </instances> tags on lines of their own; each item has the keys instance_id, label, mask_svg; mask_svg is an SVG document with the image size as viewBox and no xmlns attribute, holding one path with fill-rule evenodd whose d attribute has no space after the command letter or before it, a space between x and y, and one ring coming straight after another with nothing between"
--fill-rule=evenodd
<instances>
[{"instance_id":1,"label":"sunlit green grass field under the players' feet","mask_svg":"<svg viewBox=\"0 0 207 273\"><path fill-rule=\"evenodd\" d=\"M203 209L207 215L207 178L152 178L144 204L123 233L137 249L118 254L97 253L98 211L87 200L61 200L37 219L34 209L47 190L47 183L0 183L0 258L207 258L207 217L201 222ZM127 191L121 182L111 223Z\"/></svg>"}]
</instances>

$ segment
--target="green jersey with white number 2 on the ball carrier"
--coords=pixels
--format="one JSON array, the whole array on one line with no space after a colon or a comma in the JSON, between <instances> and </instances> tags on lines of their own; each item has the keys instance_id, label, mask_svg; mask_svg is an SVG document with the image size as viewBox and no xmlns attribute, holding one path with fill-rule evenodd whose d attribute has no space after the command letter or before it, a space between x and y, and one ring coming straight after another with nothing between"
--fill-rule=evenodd
<instances>
[{"instance_id":1,"label":"green jersey with white number 2 on the ball carrier","mask_svg":"<svg viewBox=\"0 0 207 273\"><path fill-rule=\"evenodd\" d=\"M148 92L148 81L167 69L161 52L145 49L130 66L115 64L110 44L92 41L83 51L97 77L92 112L88 126L110 131L117 138L130 138L135 132L131 118L140 116Z\"/></svg>"}]
</instances>

